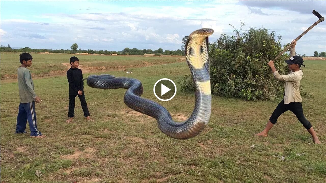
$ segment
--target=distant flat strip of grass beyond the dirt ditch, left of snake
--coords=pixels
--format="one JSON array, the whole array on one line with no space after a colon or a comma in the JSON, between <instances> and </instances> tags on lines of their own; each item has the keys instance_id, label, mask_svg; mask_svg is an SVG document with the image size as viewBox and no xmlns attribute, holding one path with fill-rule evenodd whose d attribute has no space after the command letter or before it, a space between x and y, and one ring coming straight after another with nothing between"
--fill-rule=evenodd
<instances>
[{"instance_id":1,"label":"distant flat strip of grass beyond the dirt ditch, left of snake","mask_svg":"<svg viewBox=\"0 0 326 183\"><path fill-rule=\"evenodd\" d=\"M1 79L17 78L17 68L21 65L19 55L21 53L1 52ZM181 56L135 56L135 55L80 55L80 54L43 54L31 53L33 56L30 67L33 76L52 76L65 74L71 56L77 56L80 67L86 70L106 70L126 67L138 67L175 63L185 61Z\"/></svg>"}]
</instances>

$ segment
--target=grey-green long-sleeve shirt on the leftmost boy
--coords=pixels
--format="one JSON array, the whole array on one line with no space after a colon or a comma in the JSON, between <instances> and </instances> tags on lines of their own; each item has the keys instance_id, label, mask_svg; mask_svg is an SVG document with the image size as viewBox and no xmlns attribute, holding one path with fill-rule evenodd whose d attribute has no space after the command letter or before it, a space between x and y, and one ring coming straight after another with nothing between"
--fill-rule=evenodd
<instances>
[{"instance_id":1,"label":"grey-green long-sleeve shirt on the leftmost boy","mask_svg":"<svg viewBox=\"0 0 326 183\"><path fill-rule=\"evenodd\" d=\"M37 95L34 91L32 75L29 69L25 67L18 68L18 89L22 104L35 101Z\"/></svg>"}]
</instances>

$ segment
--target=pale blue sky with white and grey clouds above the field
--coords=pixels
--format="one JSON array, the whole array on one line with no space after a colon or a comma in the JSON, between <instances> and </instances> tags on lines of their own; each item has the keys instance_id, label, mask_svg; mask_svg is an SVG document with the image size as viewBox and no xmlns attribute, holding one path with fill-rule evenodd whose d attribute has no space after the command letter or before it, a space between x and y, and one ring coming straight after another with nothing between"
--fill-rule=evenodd
<instances>
[{"instance_id":1,"label":"pale blue sky with white and grey clouds above the field","mask_svg":"<svg viewBox=\"0 0 326 183\"><path fill-rule=\"evenodd\" d=\"M200 28L233 34L241 21L282 35L288 43L318 18L326 17L323 1L0 1L2 45L46 49L121 51L181 49L182 38ZM297 44L297 53L326 51L326 21Z\"/></svg>"}]
</instances>

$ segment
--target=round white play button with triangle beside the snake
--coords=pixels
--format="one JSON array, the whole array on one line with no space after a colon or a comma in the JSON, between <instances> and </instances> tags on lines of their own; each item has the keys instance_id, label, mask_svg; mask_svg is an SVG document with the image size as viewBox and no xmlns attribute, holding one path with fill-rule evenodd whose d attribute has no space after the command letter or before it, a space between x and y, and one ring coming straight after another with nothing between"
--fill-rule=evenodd
<instances>
[{"instance_id":1,"label":"round white play button with triangle beside the snake","mask_svg":"<svg viewBox=\"0 0 326 183\"><path fill-rule=\"evenodd\" d=\"M177 93L175 83L168 78L162 78L156 81L153 90L156 98L161 101L169 101Z\"/></svg>"}]
</instances>

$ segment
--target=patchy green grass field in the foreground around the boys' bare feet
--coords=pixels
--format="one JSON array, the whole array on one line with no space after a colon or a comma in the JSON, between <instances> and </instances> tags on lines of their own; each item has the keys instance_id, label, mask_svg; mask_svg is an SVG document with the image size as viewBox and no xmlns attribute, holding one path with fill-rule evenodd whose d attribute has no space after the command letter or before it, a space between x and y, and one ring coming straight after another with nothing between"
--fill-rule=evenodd
<instances>
[{"instance_id":1,"label":"patchy green grass field in the foreground around the boys' bare feet","mask_svg":"<svg viewBox=\"0 0 326 183\"><path fill-rule=\"evenodd\" d=\"M37 54L34 55L36 58ZM65 76L34 79L36 93L43 100L42 104L36 104L37 126L47 137L32 139L29 134L14 134L19 105L17 82L1 83L1 182L325 182L326 62L307 60L305 65L302 85L312 96L303 96L304 113L322 144L314 144L289 111L279 118L268 137L255 137L253 134L265 127L277 103L220 96L213 96L211 119L201 134L188 140L172 139L160 132L155 119L124 104L126 90L99 90L86 84L86 101L94 122L83 118L77 98L75 122L67 123ZM191 114L194 93L182 92L177 83L189 73L185 62L128 71L133 74L105 73L141 80L143 97L165 106L174 120L182 121ZM167 102L157 100L153 94L153 85L164 77L172 79L178 89L176 96ZM28 127L26 131L29 132ZM250 148L252 145L255 147ZM298 153L305 154L298 156ZM284 156L285 160L273 155ZM43 175L36 176L36 170Z\"/></svg>"}]
</instances>

